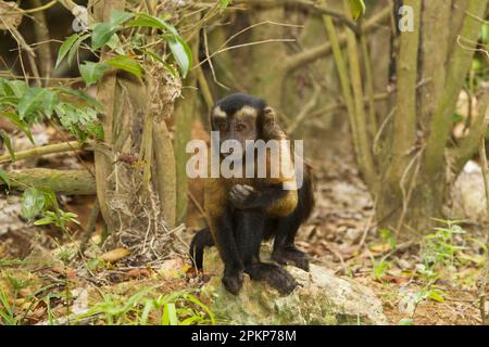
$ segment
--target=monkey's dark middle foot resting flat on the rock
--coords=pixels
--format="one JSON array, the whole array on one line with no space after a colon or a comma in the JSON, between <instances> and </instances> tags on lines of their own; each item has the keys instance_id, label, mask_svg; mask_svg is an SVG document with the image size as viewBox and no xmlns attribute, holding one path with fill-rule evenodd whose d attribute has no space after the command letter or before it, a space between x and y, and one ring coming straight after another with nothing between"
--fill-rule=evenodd
<instances>
[{"instance_id":1,"label":"monkey's dark middle foot resting flat on the rock","mask_svg":"<svg viewBox=\"0 0 489 347\"><path fill-rule=\"evenodd\" d=\"M281 295L292 293L298 284L287 270L274 264L255 262L248 266L244 271L253 281L265 281Z\"/></svg>"}]
</instances>

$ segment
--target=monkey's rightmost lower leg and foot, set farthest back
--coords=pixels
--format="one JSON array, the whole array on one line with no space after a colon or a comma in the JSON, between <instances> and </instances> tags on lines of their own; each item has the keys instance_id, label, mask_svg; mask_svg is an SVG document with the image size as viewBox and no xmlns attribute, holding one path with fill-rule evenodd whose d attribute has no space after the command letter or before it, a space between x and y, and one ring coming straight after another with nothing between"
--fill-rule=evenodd
<instances>
[{"instance_id":1,"label":"monkey's rightmost lower leg and foot, set farthest back","mask_svg":"<svg viewBox=\"0 0 489 347\"><path fill-rule=\"evenodd\" d=\"M291 264L297 268L309 271L309 256L297 249L294 244L294 239L301 223L302 219L297 211L290 216L279 218L272 259L278 264Z\"/></svg>"}]
</instances>

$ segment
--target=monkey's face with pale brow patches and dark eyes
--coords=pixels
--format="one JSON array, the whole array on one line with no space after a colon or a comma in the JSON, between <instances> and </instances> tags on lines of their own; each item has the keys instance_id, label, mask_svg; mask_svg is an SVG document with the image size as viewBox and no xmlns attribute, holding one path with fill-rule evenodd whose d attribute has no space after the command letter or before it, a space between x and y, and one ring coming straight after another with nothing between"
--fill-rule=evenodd
<instances>
[{"instance_id":1,"label":"monkey's face with pale brow patches and dark eyes","mask_svg":"<svg viewBox=\"0 0 489 347\"><path fill-rule=\"evenodd\" d=\"M230 141L235 141L235 144L241 146L242 153L246 153L247 140L255 141L259 138L258 117L260 110L252 106L244 105L239 110L228 113L221 106L215 106L212 116L212 129L220 132L220 147L223 147L223 143L227 142L224 146L228 149L228 152L223 155L233 153L234 144L229 146Z\"/></svg>"}]
</instances>

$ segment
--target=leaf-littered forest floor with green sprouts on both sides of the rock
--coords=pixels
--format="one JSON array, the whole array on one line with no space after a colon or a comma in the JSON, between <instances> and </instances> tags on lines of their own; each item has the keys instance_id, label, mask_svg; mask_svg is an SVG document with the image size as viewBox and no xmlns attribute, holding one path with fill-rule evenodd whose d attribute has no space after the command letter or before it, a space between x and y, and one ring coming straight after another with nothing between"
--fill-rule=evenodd
<instances>
[{"instance_id":1,"label":"leaf-littered forest floor with green sprouts on both sides of the rock","mask_svg":"<svg viewBox=\"0 0 489 347\"><path fill-rule=\"evenodd\" d=\"M464 224L462 233L455 224L441 223L438 233L434 231L435 236L421 244L398 243L394 233L376 227L373 202L354 169L351 151L339 141L341 134L337 137L338 141L330 141L339 143L336 147L325 150L318 144L322 150L315 151L321 153L313 162L316 207L299 233L299 247L313 262L371 287L381 299L390 324L479 324L476 282L484 264L482 228ZM55 160L59 166L60 157ZM49 167L49 160L39 164ZM66 164L76 165L73 160ZM18 206L17 196L8 200ZM77 213L86 226L92 203L93 197L75 197L63 206ZM53 227L25 224L18 211L10 215L15 215L12 220L18 226L0 226L0 322L101 323L97 317L103 314L102 323L164 322L168 314L145 318L141 306L149 301L141 301L142 294L151 291L160 300L153 300L153 307L179 300L179 314L189 323L209 319L205 307L188 294L195 293L202 279L195 275L185 255L154 267L118 262L124 249L105 254L99 249L97 254L92 248L86 258L74 258L73 245L83 237L80 230L73 229L66 236ZM92 237L96 242L99 229Z\"/></svg>"}]
</instances>

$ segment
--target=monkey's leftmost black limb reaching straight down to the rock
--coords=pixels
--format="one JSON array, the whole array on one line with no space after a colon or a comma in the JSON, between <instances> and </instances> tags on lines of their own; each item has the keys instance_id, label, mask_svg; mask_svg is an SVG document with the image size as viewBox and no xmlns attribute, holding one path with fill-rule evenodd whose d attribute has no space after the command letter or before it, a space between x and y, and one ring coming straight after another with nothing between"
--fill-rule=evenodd
<instances>
[{"instance_id":1,"label":"monkey's leftmost black limb reaching straight down to the rock","mask_svg":"<svg viewBox=\"0 0 489 347\"><path fill-rule=\"evenodd\" d=\"M226 210L222 216L210 220L210 224L224 262L223 284L227 291L236 295L242 286L243 265L236 243L231 217L231 214Z\"/></svg>"}]
</instances>

